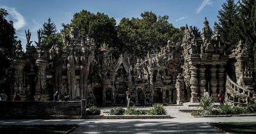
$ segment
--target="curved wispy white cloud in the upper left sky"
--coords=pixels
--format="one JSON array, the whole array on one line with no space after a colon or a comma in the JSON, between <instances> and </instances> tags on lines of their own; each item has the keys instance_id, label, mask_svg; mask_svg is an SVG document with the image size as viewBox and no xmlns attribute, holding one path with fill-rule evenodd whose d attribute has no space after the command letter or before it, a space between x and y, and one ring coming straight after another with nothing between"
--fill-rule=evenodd
<instances>
[{"instance_id":1,"label":"curved wispy white cloud in the upper left sky","mask_svg":"<svg viewBox=\"0 0 256 134\"><path fill-rule=\"evenodd\" d=\"M16 30L19 30L20 28L24 27L26 22L24 17L17 11L15 8L11 8L8 6L0 6L0 8L4 8L8 11L8 13L13 17L15 21L13 21L13 27Z\"/></svg>"}]
</instances>

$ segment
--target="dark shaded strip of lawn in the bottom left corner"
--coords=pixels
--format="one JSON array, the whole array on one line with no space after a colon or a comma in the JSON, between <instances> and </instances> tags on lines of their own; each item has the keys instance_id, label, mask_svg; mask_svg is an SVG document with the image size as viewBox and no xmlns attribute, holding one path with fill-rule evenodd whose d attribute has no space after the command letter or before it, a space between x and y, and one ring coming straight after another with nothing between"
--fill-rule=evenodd
<instances>
[{"instance_id":1,"label":"dark shaded strip of lawn in the bottom left corner","mask_svg":"<svg viewBox=\"0 0 256 134\"><path fill-rule=\"evenodd\" d=\"M0 125L0 133L60 134L71 130L74 126L76 125Z\"/></svg>"}]
</instances>

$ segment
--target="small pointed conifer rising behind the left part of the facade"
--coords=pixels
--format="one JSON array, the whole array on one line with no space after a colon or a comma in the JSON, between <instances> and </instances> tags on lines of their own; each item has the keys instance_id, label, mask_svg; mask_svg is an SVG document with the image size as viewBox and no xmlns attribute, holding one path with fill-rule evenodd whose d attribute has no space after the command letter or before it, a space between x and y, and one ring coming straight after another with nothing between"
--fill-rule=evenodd
<instances>
[{"instance_id":1,"label":"small pointed conifer rising behind the left part of the facade","mask_svg":"<svg viewBox=\"0 0 256 134\"><path fill-rule=\"evenodd\" d=\"M48 19L48 22L44 22L42 31L42 46L49 50L54 45L54 38L56 37L56 25Z\"/></svg>"}]
</instances>

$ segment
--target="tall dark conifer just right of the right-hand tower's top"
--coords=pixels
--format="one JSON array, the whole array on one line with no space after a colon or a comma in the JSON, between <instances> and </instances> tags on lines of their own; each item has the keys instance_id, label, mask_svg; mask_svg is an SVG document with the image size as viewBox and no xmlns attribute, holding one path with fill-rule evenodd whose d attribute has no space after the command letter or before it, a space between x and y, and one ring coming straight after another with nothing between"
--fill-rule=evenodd
<instances>
[{"instance_id":1,"label":"tall dark conifer just right of the right-hand tower's top","mask_svg":"<svg viewBox=\"0 0 256 134\"><path fill-rule=\"evenodd\" d=\"M230 54L232 49L236 48L239 38L239 30L237 24L238 19L238 6L234 0L227 0L222 4L222 9L218 13L220 22L221 40L228 44L227 54Z\"/></svg>"}]
</instances>

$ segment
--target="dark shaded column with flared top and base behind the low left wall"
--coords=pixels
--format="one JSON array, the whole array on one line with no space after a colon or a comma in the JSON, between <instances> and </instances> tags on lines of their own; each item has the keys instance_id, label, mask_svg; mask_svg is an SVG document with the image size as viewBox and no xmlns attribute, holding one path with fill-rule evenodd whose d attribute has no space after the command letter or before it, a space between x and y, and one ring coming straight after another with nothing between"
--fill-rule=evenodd
<instances>
[{"instance_id":1,"label":"dark shaded column with flared top and base behind the low left wall","mask_svg":"<svg viewBox=\"0 0 256 134\"><path fill-rule=\"evenodd\" d=\"M36 93L35 93L35 100L37 101L49 101L51 95L48 93L46 89L46 66L47 61L42 59L36 60L36 66L38 67L37 73L37 82L36 82Z\"/></svg>"}]
</instances>

